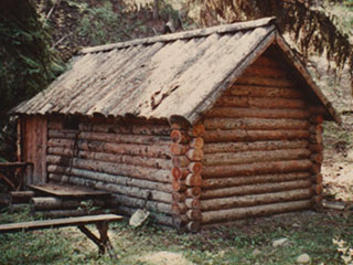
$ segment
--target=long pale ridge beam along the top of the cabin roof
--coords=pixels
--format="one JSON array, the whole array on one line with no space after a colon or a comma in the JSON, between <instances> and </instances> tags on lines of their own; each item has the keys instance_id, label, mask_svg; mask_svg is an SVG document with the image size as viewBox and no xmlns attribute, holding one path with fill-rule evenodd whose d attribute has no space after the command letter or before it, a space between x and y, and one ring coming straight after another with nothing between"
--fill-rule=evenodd
<instances>
[{"instance_id":1,"label":"long pale ridge beam along the top of the cabin roof","mask_svg":"<svg viewBox=\"0 0 353 265\"><path fill-rule=\"evenodd\" d=\"M105 44L92 47L82 49L78 54L87 54L87 53L97 53L97 52L107 52L114 49L122 49L128 46L141 45L141 44L151 44L156 42L169 42L182 39L192 39L195 36L206 36L214 33L227 33L227 32L236 32L242 30L249 30L254 28L265 26L272 24L276 21L275 17L245 21L245 22L236 22L233 24L224 24L224 25L215 25L211 28L191 30L191 31L182 31L172 34L149 36L143 39L136 39L127 42L118 42L113 44Z\"/></svg>"}]
</instances>

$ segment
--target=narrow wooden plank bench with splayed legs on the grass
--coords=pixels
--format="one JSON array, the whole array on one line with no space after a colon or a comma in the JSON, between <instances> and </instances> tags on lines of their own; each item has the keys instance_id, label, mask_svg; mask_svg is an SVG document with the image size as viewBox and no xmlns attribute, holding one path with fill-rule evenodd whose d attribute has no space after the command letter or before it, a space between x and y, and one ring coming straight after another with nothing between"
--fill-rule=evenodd
<instances>
[{"instance_id":1,"label":"narrow wooden plank bench with splayed legs on the grass","mask_svg":"<svg viewBox=\"0 0 353 265\"><path fill-rule=\"evenodd\" d=\"M89 240L92 240L99 250L99 254L104 254L106 251L110 257L115 257L113 246L108 237L108 227L110 222L121 221L122 216L116 214L99 214L99 215L86 215L79 218L65 218L53 219L44 221L32 221L22 223L1 224L0 233L14 233L20 231L33 231L42 229L54 229L64 226L77 226ZM85 225L95 224L99 237L94 235Z\"/></svg>"}]
</instances>

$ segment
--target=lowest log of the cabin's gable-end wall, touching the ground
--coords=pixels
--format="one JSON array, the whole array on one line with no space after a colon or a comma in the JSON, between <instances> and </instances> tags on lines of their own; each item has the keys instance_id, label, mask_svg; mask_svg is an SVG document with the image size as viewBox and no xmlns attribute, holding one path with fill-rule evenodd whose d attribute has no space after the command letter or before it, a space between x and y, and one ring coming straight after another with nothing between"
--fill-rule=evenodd
<instances>
[{"instance_id":1,"label":"lowest log of the cabin's gable-end wall, touching the ground","mask_svg":"<svg viewBox=\"0 0 353 265\"><path fill-rule=\"evenodd\" d=\"M208 211L202 213L202 224L227 222L231 220L238 220L253 216L263 216L275 213L293 212L304 209L310 209L310 200L282 202L274 204L265 204L249 208L227 209Z\"/></svg>"}]
</instances>

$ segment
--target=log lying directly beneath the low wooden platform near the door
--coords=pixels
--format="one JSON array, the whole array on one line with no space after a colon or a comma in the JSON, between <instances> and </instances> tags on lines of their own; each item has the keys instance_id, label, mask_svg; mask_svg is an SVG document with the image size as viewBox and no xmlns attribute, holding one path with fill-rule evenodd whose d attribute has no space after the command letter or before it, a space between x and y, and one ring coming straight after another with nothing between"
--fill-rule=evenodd
<instances>
[{"instance_id":1,"label":"log lying directly beneath the low wooden platform near the door","mask_svg":"<svg viewBox=\"0 0 353 265\"><path fill-rule=\"evenodd\" d=\"M56 197L35 197L31 199L31 204L35 211L64 210L64 209L85 209L85 201L74 199L60 199ZM108 202L99 199L89 199L89 206L105 208Z\"/></svg>"}]
</instances>

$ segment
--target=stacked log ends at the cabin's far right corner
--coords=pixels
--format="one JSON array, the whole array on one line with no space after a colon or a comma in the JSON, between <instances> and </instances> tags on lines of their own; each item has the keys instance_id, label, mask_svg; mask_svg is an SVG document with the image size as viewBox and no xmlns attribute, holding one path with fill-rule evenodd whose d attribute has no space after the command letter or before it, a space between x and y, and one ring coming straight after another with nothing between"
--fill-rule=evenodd
<instances>
[{"instance_id":1,"label":"stacked log ends at the cabin's far right corner","mask_svg":"<svg viewBox=\"0 0 353 265\"><path fill-rule=\"evenodd\" d=\"M312 115L310 116L310 149L312 155L310 157L312 161L312 204L314 209L321 208L322 202L322 174L321 165L323 161L323 142L322 142L322 121L324 109L320 107L310 108Z\"/></svg>"}]
</instances>

